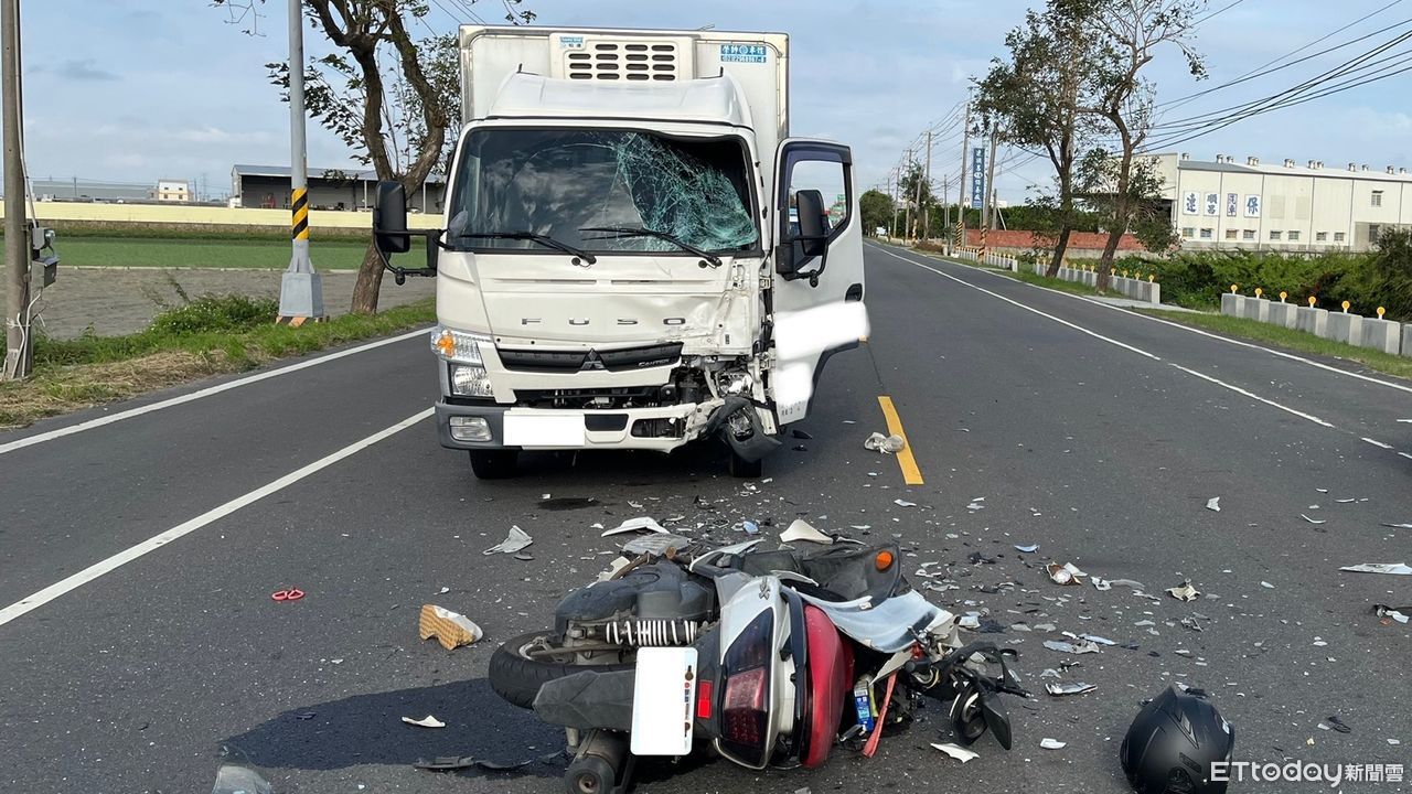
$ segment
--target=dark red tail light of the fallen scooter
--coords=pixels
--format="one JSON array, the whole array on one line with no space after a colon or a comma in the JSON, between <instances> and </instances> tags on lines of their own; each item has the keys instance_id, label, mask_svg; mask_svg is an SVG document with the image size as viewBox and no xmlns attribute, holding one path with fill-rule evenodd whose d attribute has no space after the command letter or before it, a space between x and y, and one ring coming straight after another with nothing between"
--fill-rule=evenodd
<instances>
[{"instance_id":1,"label":"dark red tail light of the fallen scooter","mask_svg":"<svg viewBox=\"0 0 1412 794\"><path fill-rule=\"evenodd\" d=\"M770 760L770 658L774 615L761 612L736 637L722 660L724 692L720 702L722 754L751 766Z\"/></svg>"}]
</instances>

